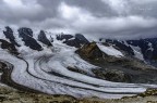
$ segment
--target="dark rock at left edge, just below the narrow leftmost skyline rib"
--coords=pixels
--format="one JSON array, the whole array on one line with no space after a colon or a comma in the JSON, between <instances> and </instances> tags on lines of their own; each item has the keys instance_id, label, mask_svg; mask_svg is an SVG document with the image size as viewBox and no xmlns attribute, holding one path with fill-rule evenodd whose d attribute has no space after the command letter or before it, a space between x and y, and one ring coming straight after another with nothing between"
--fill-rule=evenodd
<instances>
[{"instance_id":1,"label":"dark rock at left edge, just below the narrow leftmost skyline rib","mask_svg":"<svg viewBox=\"0 0 157 103\"><path fill-rule=\"evenodd\" d=\"M3 40L3 39L0 39L0 47L1 47L1 49L9 50L9 52L11 52L11 53L13 53L15 55L19 54L19 52L17 52L16 48L14 47L14 44L12 44L12 43Z\"/></svg>"}]
</instances>

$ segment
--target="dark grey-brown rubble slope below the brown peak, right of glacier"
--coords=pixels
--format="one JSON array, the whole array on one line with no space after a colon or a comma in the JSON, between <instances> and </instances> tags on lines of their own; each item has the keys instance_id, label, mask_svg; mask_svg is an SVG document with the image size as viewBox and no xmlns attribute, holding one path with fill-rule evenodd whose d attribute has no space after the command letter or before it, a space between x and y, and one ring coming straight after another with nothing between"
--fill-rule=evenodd
<instances>
[{"instance_id":1,"label":"dark grey-brown rubble slope below the brown peak, right of glacier","mask_svg":"<svg viewBox=\"0 0 157 103\"><path fill-rule=\"evenodd\" d=\"M100 68L94 69L96 77L120 82L129 83L157 83L157 70L155 67L135 61L135 60L119 60L108 62L104 59L88 60L89 63Z\"/></svg>"}]
</instances>

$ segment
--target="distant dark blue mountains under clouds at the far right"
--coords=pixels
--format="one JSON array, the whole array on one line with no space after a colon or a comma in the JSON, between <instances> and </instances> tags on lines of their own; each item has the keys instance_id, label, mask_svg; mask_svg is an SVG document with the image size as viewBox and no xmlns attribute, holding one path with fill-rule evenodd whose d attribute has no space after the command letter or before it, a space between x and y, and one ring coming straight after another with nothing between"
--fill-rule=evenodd
<instances>
[{"instance_id":1,"label":"distant dark blue mountains under clouds at the far right","mask_svg":"<svg viewBox=\"0 0 157 103\"><path fill-rule=\"evenodd\" d=\"M157 60L157 38L125 41L106 39L105 42L114 44L121 50L128 52L130 55L134 55L134 51L131 46L138 47L145 60Z\"/></svg>"}]
</instances>

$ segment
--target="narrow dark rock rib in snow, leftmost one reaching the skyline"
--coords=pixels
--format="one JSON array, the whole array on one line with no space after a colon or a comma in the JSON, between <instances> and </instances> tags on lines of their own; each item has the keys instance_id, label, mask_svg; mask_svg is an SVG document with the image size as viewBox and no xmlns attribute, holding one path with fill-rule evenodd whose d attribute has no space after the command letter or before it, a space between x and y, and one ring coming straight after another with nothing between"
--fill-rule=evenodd
<instances>
[{"instance_id":1,"label":"narrow dark rock rib in snow, leftmost one reaching the skyline","mask_svg":"<svg viewBox=\"0 0 157 103\"><path fill-rule=\"evenodd\" d=\"M12 30L9 26L7 26L5 29L7 29L7 30L3 31L5 38L9 39L11 43L20 47L20 44L15 41L15 38L14 38L14 36L13 36L13 30Z\"/></svg>"}]
</instances>

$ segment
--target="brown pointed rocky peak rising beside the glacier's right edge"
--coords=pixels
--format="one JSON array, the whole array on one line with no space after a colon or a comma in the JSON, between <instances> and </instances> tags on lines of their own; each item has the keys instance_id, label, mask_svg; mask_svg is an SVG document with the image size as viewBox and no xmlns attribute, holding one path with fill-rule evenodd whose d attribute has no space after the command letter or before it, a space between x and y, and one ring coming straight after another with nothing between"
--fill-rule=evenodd
<instances>
[{"instance_id":1,"label":"brown pointed rocky peak rising beside the glacier's right edge","mask_svg":"<svg viewBox=\"0 0 157 103\"><path fill-rule=\"evenodd\" d=\"M76 51L82 56L87 59L99 59L102 57L102 52L97 47L96 42L84 44L81 49Z\"/></svg>"}]
</instances>

